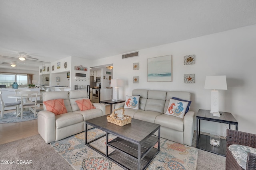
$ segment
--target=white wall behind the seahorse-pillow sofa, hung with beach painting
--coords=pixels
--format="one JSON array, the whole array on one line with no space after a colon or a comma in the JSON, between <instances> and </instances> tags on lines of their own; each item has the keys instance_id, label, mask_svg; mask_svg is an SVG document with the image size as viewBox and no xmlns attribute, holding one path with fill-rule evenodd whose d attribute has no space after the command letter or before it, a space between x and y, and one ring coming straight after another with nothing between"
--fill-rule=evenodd
<instances>
[{"instance_id":1,"label":"white wall behind the seahorse-pillow sofa, hung with beach painting","mask_svg":"<svg viewBox=\"0 0 256 170\"><path fill-rule=\"evenodd\" d=\"M152 40L153 41L153 40ZM238 130L256 134L254 102L256 25L242 27L212 35L197 37L157 47L139 50L139 57L122 59L116 55L94 61L95 65L113 63L113 78L125 80L120 89L120 99L131 95L133 89L182 90L192 93L190 110L210 109L210 90L204 89L208 75L226 75L228 90L220 90L220 111L231 112L238 121ZM172 82L147 82L147 59L172 55ZM185 55L196 55L196 64L184 65ZM139 70L132 64L140 63ZM184 84L184 74L194 73L196 83ZM139 76L140 83L133 84L132 77ZM194 119L196 127L196 119ZM217 132L226 136L221 123L201 121L201 131ZM234 126L231 126L234 129ZM196 128L195 128L196 129Z\"/></svg>"}]
</instances>

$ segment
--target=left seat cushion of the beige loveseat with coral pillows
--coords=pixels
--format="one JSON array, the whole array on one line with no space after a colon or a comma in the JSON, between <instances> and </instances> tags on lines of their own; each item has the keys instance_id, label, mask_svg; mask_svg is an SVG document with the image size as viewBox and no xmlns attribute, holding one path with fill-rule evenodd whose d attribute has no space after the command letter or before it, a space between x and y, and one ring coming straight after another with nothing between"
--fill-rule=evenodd
<instances>
[{"instance_id":1,"label":"left seat cushion of the beige loveseat with coral pillows","mask_svg":"<svg viewBox=\"0 0 256 170\"><path fill-rule=\"evenodd\" d=\"M62 127L66 127L69 125L74 125L76 123L80 123L83 121L84 121L83 115L79 113L72 113L72 112L56 115L56 118L55 118L56 129L60 129Z\"/></svg>"}]
</instances>

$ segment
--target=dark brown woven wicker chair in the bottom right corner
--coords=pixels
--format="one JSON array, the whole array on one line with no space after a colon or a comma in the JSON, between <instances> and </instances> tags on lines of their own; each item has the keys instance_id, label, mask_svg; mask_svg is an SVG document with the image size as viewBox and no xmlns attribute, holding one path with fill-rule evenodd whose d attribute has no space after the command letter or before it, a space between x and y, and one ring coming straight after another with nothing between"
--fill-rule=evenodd
<instances>
[{"instance_id":1,"label":"dark brown woven wicker chair in the bottom right corner","mask_svg":"<svg viewBox=\"0 0 256 170\"><path fill-rule=\"evenodd\" d=\"M228 149L232 144L256 148L256 135L227 129L226 170L243 170ZM248 153L246 170L256 170L256 154Z\"/></svg>"}]
</instances>

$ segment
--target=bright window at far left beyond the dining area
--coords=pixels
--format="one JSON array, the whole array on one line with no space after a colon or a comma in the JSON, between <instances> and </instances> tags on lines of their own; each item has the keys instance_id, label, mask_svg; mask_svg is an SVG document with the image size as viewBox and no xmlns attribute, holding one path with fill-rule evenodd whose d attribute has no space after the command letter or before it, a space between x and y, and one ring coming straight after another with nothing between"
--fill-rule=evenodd
<instances>
[{"instance_id":1,"label":"bright window at far left beyond the dining area","mask_svg":"<svg viewBox=\"0 0 256 170\"><path fill-rule=\"evenodd\" d=\"M6 87L9 87L13 82L17 82L19 85L28 84L28 75L11 73L0 74L0 85L6 85Z\"/></svg>"}]
</instances>

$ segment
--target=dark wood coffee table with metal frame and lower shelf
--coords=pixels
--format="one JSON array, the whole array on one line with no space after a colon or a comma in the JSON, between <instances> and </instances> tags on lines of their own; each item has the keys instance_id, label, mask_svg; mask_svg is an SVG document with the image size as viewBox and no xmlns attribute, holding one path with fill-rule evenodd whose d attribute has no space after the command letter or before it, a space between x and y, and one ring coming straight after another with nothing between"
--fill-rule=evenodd
<instances>
[{"instance_id":1,"label":"dark wood coffee table with metal frame and lower shelf","mask_svg":"<svg viewBox=\"0 0 256 170\"><path fill-rule=\"evenodd\" d=\"M107 115L96 117L86 121L85 145L102 154L109 160L112 160L119 166L127 170L144 170L160 151L160 125L132 119L132 122L118 126L107 121ZM87 141L87 126L91 125L106 134L92 141ZM158 131L158 137L153 134ZM90 143L108 135L116 136L115 139L106 143L106 152L101 152L99 149L90 145ZM154 145L158 143L158 149ZM108 153L108 147L114 149Z\"/></svg>"}]
</instances>

